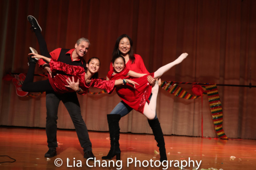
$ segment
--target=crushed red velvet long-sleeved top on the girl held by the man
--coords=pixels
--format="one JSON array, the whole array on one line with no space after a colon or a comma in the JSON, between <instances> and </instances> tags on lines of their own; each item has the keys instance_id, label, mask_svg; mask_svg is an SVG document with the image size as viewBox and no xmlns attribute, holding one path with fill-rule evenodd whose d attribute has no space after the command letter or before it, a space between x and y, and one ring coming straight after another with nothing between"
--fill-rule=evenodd
<instances>
[{"instance_id":1,"label":"crushed red velvet long-sleeved top on the girl held by the man","mask_svg":"<svg viewBox=\"0 0 256 170\"><path fill-rule=\"evenodd\" d=\"M51 59L50 68L53 73L58 71L58 75L49 78L53 90L58 94L74 92L73 89L65 87L65 85L68 85L66 79L70 78L72 80L72 77L74 77L75 82L79 79L79 87L84 91L84 94L88 92L89 87L105 89L108 93L112 93L115 89L115 80L92 79L90 84L87 84L84 79L85 71L81 66L68 65Z\"/></svg>"}]
</instances>

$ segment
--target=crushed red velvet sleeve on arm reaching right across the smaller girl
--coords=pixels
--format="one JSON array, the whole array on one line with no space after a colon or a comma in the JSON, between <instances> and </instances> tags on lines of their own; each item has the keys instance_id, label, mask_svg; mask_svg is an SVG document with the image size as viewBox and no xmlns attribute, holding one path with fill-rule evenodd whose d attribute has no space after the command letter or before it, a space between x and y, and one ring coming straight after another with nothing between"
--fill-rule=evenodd
<instances>
[{"instance_id":1,"label":"crushed red velvet sleeve on arm reaching right across the smaller girl","mask_svg":"<svg viewBox=\"0 0 256 170\"><path fill-rule=\"evenodd\" d=\"M111 94L115 90L115 81L116 80L102 80L102 79L94 79L93 87L105 89L108 94Z\"/></svg>"}]
</instances>

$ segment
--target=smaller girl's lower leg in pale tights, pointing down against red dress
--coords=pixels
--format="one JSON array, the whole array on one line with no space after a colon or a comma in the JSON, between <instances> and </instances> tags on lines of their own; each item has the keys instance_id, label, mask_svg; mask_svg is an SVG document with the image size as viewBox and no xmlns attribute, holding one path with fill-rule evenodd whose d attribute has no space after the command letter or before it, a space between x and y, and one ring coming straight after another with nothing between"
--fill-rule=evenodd
<instances>
[{"instance_id":1,"label":"smaller girl's lower leg in pale tights, pointing down against red dress","mask_svg":"<svg viewBox=\"0 0 256 170\"><path fill-rule=\"evenodd\" d=\"M150 103L149 105L148 103L145 103L145 106L144 106L143 114L150 120L154 119L156 116L158 89L159 89L159 85L158 85L158 81L156 81L154 87L152 87L152 91L151 91L152 96L150 99Z\"/></svg>"}]
</instances>

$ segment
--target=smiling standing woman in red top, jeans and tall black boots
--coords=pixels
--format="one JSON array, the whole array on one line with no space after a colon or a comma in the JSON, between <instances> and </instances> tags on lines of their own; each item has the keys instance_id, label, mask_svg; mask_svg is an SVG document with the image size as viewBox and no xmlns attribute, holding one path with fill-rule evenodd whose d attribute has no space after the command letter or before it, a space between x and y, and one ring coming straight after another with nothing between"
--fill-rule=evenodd
<instances>
[{"instance_id":1,"label":"smiling standing woman in red top, jeans and tall black boots","mask_svg":"<svg viewBox=\"0 0 256 170\"><path fill-rule=\"evenodd\" d=\"M121 54L125 58L125 65L131 71L141 73L141 74L149 74L147 69L145 68L142 57L138 54L134 54L133 51L133 42L131 38L123 34L119 36L116 40L116 44L113 49L112 58L118 54ZM113 70L112 63L110 64L110 71ZM148 76L148 82L150 84L154 84L156 79L151 76ZM150 100L150 97L148 98ZM110 114L107 115L108 119L108 127L111 139L111 148L107 156L103 156L102 159L112 159L116 156L116 160L120 160L120 148L119 148L119 120L121 117L127 115L132 108L128 106L125 102L121 101L116 107L111 111ZM153 120L148 119L148 124L150 125L155 140L157 141L157 146L160 151L160 161L167 160L166 156L166 148L165 142L163 138L163 132L160 126L160 123L157 119L157 114L155 114L155 118Z\"/></svg>"}]
</instances>

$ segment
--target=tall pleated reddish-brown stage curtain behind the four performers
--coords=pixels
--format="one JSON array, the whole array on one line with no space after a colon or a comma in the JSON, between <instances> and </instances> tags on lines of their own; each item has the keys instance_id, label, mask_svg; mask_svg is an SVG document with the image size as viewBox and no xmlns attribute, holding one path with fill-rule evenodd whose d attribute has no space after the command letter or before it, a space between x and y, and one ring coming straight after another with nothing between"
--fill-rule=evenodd
<instances>
[{"instance_id":1,"label":"tall pleated reddish-brown stage curtain behind the four performers","mask_svg":"<svg viewBox=\"0 0 256 170\"><path fill-rule=\"evenodd\" d=\"M49 51L74 48L86 37L91 46L85 59L99 57L100 77L106 77L116 38L128 34L136 54L154 72L183 52L189 56L162 80L256 85L255 0L1 0L0 77L26 73L29 47L39 51L28 15L42 28ZM36 68L36 74L45 73ZM35 80L45 79L36 77ZM192 92L191 85L182 87ZM218 86L223 128L229 138L256 139L256 88ZM89 130L108 131L107 114L119 97L79 96ZM186 100L160 89L157 116L167 135L215 137L207 96ZM0 125L45 127L45 94L17 96L12 81L0 80ZM121 132L152 133L147 119L132 111L120 121ZM74 129L61 103L58 128Z\"/></svg>"}]
</instances>

